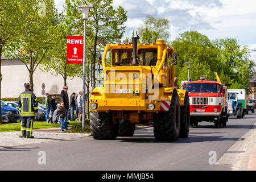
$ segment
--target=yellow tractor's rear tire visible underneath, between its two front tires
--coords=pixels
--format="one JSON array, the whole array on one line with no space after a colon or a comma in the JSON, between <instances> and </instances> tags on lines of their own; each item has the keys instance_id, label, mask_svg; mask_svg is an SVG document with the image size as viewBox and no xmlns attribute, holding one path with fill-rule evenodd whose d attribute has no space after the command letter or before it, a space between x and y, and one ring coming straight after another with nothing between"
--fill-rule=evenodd
<instances>
[{"instance_id":1,"label":"yellow tractor's rear tire visible underneath, between its two front tires","mask_svg":"<svg viewBox=\"0 0 256 182\"><path fill-rule=\"evenodd\" d=\"M134 134L135 124L131 124L129 121L122 119L119 122L118 137L131 137Z\"/></svg>"}]
</instances>

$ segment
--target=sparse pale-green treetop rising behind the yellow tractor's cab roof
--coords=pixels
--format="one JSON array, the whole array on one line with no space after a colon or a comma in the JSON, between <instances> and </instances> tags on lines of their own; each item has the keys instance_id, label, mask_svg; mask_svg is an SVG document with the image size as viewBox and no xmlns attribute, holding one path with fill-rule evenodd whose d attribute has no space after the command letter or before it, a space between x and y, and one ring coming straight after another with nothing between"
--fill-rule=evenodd
<instances>
[{"instance_id":1,"label":"sparse pale-green treetop rising behind the yellow tractor's cab roof","mask_svg":"<svg viewBox=\"0 0 256 182\"><path fill-rule=\"evenodd\" d=\"M138 28L138 34L142 40L164 39L167 42L170 38L169 29L168 19L148 15L141 27Z\"/></svg>"}]
</instances>

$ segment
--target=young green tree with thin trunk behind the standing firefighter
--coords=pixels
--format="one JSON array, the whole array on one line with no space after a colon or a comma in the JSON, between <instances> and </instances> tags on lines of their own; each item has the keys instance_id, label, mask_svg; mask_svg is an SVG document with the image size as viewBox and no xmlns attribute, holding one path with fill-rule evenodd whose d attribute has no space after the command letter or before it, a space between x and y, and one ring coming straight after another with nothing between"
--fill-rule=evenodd
<instances>
[{"instance_id":1,"label":"young green tree with thin trunk behind the standing firefighter","mask_svg":"<svg viewBox=\"0 0 256 182\"><path fill-rule=\"evenodd\" d=\"M26 7L24 3L22 7ZM48 59L49 49L52 47L51 26L56 25L57 9L53 0L36 0L29 10L24 26L13 41L6 44L7 57L18 58L26 65L29 72L31 90L34 90L33 74L42 63Z\"/></svg>"}]
</instances>

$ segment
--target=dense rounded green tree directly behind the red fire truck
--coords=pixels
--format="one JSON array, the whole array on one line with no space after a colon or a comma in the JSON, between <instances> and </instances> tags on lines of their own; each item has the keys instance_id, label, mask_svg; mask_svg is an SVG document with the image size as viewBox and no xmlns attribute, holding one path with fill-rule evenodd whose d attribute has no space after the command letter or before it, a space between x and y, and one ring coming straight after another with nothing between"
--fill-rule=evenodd
<instances>
[{"instance_id":1,"label":"dense rounded green tree directly behind the red fire truck","mask_svg":"<svg viewBox=\"0 0 256 182\"><path fill-rule=\"evenodd\" d=\"M205 35L196 31L186 31L174 40L172 46L177 53L175 76L181 80L188 80L186 62L191 62L189 77L198 80L200 75L207 75L208 80L214 80L214 72L218 72L216 48ZM179 87L181 82L179 81Z\"/></svg>"}]
</instances>

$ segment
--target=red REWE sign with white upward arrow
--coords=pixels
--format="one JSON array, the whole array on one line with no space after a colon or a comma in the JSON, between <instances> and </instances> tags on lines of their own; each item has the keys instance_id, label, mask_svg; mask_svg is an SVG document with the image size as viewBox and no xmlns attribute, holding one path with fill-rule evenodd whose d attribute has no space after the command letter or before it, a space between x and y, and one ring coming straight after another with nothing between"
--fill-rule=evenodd
<instances>
[{"instance_id":1,"label":"red REWE sign with white upward arrow","mask_svg":"<svg viewBox=\"0 0 256 182\"><path fill-rule=\"evenodd\" d=\"M67 64L82 64L84 36L67 36Z\"/></svg>"}]
</instances>

